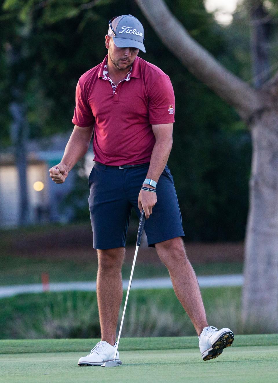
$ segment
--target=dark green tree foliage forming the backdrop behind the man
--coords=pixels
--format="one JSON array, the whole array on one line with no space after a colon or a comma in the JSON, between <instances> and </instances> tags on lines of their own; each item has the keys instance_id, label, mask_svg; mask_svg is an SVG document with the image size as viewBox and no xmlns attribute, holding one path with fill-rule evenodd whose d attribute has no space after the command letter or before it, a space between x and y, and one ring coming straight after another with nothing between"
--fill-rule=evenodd
<instances>
[{"instance_id":1,"label":"dark green tree foliage forming the backdrop behind the man","mask_svg":"<svg viewBox=\"0 0 278 383\"><path fill-rule=\"evenodd\" d=\"M238 28L216 25L203 0L167 4L200 44L232 72L250 79L246 31L243 48L237 49L234 37L238 40L241 35ZM20 86L27 106L30 138L70 129L76 83L107 53L104 36L108 20L127 13L138 17L145 28L147 52L140 52L140 56L169 74L175 90L176 123L169 166L176 181L186 239L242 239L248 206L249 134L232 108L166 50L133 0L3 3L0 146L10 143L8 105L14 84ZM16 62L8 61L10 47L17 52ZM87 193L82 190L85 184L76 190L78 198ZM85 207L78 211L78 218L88 219Z\"/></svg>"}]
</instances>

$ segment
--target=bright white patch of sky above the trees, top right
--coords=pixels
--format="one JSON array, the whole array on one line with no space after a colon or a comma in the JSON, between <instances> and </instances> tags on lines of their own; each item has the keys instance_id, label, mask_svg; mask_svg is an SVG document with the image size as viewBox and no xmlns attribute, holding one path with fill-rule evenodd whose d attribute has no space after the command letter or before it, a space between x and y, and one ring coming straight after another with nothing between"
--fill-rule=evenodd
<instances>
[{"instance_id":1,"label":"bright white patch of sky above the trees, top right","mask_svg":"<svg viewBox=\"0 0 278 383\"><path fill-rule=\"evenodd\" d=\"M232 22L232 14L236 10L240 0L205 0L208 12L214 13L215 20L219 24L229 25Z\"/></svg>"}]
</instances>

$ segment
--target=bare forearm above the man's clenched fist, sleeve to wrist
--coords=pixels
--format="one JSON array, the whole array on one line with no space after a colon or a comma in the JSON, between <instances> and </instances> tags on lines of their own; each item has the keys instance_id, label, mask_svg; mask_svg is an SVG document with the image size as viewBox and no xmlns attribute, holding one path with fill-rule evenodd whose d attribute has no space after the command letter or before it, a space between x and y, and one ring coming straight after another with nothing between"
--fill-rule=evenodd
<instances>
[{"instance_id":1,"label":"bare forearm above the man's clenched fist, sleeve to wrist","mask_svg":"<svg viewBox=\"0 0 278 383\"><path fill-rule=\"evenodd\" d=\"M73 129L61 160L61 163L67 166L68 172L87 153L92 135L93 130L89 128L75 127Z\"/></svg>"}]
</instances>

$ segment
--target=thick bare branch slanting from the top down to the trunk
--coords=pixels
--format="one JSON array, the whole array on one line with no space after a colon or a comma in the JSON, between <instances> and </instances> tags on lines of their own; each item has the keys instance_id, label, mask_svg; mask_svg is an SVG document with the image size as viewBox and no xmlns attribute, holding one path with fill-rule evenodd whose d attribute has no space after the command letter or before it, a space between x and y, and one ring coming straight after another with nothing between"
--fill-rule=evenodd
<instances>
[{"instance_id":1,"label":"thick bare branch slanting from the top down to the trunk","mask_svg":"<svg viewBox=\"0 0 278 383\"><path fill-rule=\"evenodd\" d=\"M262 108L257 92L223 67L172 15L163 0L136 0L158 37L199 80L247 120Z\"/></svg>"}]
</instances>

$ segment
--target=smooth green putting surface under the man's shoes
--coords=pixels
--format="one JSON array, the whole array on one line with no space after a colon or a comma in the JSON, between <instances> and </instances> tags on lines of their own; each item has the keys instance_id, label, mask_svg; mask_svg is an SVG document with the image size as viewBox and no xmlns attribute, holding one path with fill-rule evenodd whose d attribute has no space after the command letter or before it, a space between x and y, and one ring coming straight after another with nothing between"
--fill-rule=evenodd
<instances>
[{"instance_id":1,"label":"smooth green putting surface under the man's shoes","mask_svg":"<svg viewBox=\"0 0 278 383\"><path fill-rule=\"evenodd\" d=\"M203 362L196 337L123 338L120 344L123 365L114 368L77 366L78 358L88 354L94 345L90 339L2 340L0 382L273 383L278 375L277 340L276 334L237 336L234 345L221 356ZM65 352L68 346L76 351Z\"/></svg>"}]
</instances>

